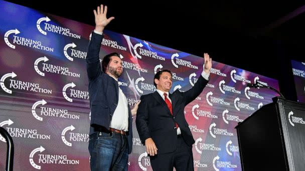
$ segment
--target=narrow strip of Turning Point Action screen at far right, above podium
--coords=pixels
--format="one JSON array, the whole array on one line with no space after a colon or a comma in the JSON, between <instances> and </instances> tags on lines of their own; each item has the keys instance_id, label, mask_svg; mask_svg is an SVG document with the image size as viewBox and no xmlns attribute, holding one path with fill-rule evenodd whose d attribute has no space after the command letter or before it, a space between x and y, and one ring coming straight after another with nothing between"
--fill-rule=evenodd
<instances>
[{"instance_id":1,"label":"narrow strip of Turning Point Action screen at far right, above podium","mask_svg":"<svg viewBox=\"0 0 305 171\"><path fill-rule=\"evenodd\" d=\"M291 64L297 101L305 103L305 62L291 60Z\"/></svg>"}]
</instances>

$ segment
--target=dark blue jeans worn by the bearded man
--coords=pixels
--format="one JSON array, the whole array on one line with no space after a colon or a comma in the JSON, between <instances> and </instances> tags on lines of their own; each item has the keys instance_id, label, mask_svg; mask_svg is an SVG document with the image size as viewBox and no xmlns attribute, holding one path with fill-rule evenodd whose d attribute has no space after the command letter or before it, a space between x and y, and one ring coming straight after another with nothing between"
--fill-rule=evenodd
<instances>
[{"instance_id":1,"label":"dark blue jeans worn by the bearded man","mask_svg":"<svg viewBox=\"0 0 305 171\"><path fill-rule=\"evenodd\" d=\"M126 170L128 144L126 135L94 132L89 136L91 170Z\"/></svg>"}]
</instances>

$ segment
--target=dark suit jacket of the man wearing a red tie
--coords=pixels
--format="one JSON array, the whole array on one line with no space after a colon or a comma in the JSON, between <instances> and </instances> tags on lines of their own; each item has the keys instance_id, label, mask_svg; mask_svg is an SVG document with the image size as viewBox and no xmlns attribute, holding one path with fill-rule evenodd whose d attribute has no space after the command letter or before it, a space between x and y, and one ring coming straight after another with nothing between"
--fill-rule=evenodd
<instances>
[{"instance_id":1,"label":"dark suit jacket of the man wearing a red tie","mask_svg":"<svg viewBox=\"0 0 305 171\"><path fill-rule=\"evenodd\" d=\"M208 80L200 75L198 81L188 91L176 90L173 94L169 94L172 100L173 115L157 91L142 95L135 120L142 143L151 137L156 143L158 153L173 152L177 148L176 121L183 139L192 146L195 140L185 119L184 107L202 92L207 83Z\"/></svg>"}]
</instances>

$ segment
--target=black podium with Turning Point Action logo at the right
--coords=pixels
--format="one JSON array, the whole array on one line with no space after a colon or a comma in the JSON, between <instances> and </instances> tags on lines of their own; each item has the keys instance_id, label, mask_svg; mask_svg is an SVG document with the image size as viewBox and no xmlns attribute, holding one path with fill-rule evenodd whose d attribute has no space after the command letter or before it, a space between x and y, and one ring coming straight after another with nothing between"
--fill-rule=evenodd
<instances>
[{"instance_id":1,"label":"black podium with Turning Point Action logo at the right","mask_svg":"<svg viewBox=\"0 0 305 171\"><path fill-rule=\"evenodd\" d=\"M235 127L241 168L305 170L305 104L272 100Z\"/></svg>"}]
</instances>

